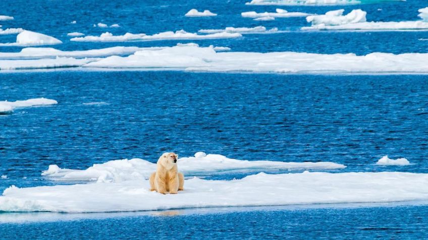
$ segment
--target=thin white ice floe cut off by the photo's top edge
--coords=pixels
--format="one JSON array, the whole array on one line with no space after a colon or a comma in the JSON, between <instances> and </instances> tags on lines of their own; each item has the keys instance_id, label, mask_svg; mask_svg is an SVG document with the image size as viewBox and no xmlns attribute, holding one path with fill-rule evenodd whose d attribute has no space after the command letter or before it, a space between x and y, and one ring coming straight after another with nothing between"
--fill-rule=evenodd
<instances>
[{"instance_id":1,"label":"thin white ice floe cut off by the photo's top edge","mask_svg":"<svg viewBox=\"0 0 428 240\"><path fill-rule=\"evenodd\" d=\"M252 0L246 5L313 5L313 6L329 6L329 5L355 5L355 4L374 4L382 2L395 2L405 0Z\"/></svg>"}]
</instances>

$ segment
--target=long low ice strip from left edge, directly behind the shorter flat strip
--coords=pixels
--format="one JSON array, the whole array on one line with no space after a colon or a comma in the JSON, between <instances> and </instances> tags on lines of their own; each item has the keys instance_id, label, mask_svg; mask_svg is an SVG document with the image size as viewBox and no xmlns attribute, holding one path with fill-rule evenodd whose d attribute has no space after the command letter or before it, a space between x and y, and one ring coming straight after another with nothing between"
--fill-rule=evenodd
<instances>
[{"instance_id":1,"label":"long low ice strip from left edge, directly behind the shorter flat strip","mask_svg":"<svg viewBox=\"0 0 428 240\"><path fill-rule=\"evenodd\" d=\"M112 55L127 55L144 49L162 49L163 47L109 47L101 49L61 51L50 47L26 47L20 52L0 52L0 59L26 59L26 58L56 58L56 57L105 57Z\"/></svg>"}]
</instances>

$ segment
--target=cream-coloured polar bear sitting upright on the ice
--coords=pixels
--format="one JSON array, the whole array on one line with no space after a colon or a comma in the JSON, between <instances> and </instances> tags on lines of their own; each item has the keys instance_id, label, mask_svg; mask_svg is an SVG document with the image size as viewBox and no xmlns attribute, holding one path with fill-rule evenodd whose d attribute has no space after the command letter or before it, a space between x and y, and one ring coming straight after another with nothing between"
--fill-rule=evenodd
<instances>
[{"instance_id":1,"label":"cream-coloured polar bear sitting upright on the ice","mask_svg":"<svg viewBox=\"0 0 428 240\"><path fill-rule=\"evenodd\" d=\"M150 175L150 191L176 194L184 190L184 175L178 172L177 159L174 152L165 152L159 157L156 172Z\"/></svg>"}]
</instances>

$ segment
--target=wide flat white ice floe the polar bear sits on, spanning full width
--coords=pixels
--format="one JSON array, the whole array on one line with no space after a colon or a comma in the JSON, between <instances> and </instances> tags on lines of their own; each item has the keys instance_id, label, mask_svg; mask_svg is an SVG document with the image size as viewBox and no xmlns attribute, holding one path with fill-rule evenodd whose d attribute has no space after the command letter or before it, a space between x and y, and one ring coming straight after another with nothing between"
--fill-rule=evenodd
<instances>
[{"instance_id":1,"label":"wide flat white ice floe the polar bear sits on, spanning full width","mask_svg":"<svg viewBox=\"0 0 428 240\"><path fill-rule=\"evenodd\" d=\"M178 194L149 191L147 180L12 186L0 197L0 211L115 212L178 208L372 203L428 200L428 174L318 173L270 175L240 180L192 178Z\"/></svg>"}]
</instances>

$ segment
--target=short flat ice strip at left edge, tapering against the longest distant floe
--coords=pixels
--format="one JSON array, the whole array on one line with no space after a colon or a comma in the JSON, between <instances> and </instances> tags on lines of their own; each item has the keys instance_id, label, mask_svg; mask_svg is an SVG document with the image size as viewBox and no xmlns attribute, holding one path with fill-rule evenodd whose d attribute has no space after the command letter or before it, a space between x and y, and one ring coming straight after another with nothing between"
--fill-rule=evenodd
<instances>
[{"instance_id":1,"label":"short flat ice strip at left edge, tapering against the longest distant floe","mask_svg":"<svg viewBox=\"0 0 428 240\"><path fill-rule=\"evenodd\" d=\"M41 58L28 60L0 60L0 70L45 69L83 66L95 59L72 57Z\"/></svg>"}]
</instances>

